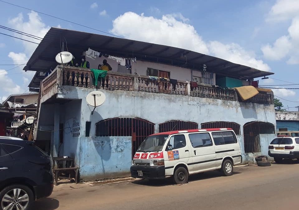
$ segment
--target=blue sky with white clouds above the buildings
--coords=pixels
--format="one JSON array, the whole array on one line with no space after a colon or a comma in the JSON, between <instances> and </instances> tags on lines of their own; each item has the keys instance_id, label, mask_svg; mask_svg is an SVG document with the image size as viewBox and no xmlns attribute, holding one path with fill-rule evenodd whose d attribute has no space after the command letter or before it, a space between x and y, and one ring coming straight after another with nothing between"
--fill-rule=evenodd
<instances>
[{"instance_id":1,"label":"blue sky with white clouds above the buildings","mask_svg":"<svg viewBox=\"0 0 299 210\"><path fill-rule=\"evenodd\" d=\"M259 80L259 85L299 88L279 86L299 83L299 0L6 1L124 38L189 49L275 73ZM1 1L0 25L38 37L50 27L107 35ZM0 33L40 42L2 28ZM29 92L35 72L24 72L24 65L18 65L26 64L36 46L0 34L0 102L10 94ZM299 90L273 92L282 98L284 108L297 110Z\"/></svg>"}]
</instances>

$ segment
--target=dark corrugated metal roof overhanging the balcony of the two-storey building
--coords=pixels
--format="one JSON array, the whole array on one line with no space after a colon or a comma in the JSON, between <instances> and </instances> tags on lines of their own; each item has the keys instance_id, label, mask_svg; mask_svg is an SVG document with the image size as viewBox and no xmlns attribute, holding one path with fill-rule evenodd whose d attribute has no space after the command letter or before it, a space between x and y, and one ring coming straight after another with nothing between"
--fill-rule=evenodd
<instances>
[{"instance_id":1,"label":"dark corrugated metal roof overhanging the balcony of the two-storey building","mask_svg":"<svg viewBox=\"0 0 299 210\"><path fill-rule=\"evenodd\" d=\"M82 52L90 47L98 52L114 56L136 57L137 60L153 61L194 70L202 70L202 65L206 64L209 72L240 79L273 74L186 49L54 27L47 32L23 70L46 72L51 67L54 69L57 65L55 56L61 51L60 43L64 38L67 41L69 52L75 57L82 55Z\"/></svg>"}]
</instances>

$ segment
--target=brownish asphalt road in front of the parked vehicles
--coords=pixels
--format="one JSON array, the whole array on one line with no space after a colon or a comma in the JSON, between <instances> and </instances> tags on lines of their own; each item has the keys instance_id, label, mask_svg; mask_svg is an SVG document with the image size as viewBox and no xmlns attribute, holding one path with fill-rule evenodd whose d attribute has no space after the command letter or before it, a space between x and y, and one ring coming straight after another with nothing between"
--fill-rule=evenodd
<instances>
[{"instance_id":1,"label":"brownish asphalt road in front of the parked vehicles","mask_svg":"<svg viewBox=\"0 0 299 210\"><path fill-rule=\"evenodd\" d=\"M37 201L32 209L298 209L299 164L238 167L230 177L217 171L205 172L191 176L188 184L180 186L171 180L135 180L92 187L77 184L78 189L71 186L58 186L50 198Z\"/></svg>"}]
</instances>

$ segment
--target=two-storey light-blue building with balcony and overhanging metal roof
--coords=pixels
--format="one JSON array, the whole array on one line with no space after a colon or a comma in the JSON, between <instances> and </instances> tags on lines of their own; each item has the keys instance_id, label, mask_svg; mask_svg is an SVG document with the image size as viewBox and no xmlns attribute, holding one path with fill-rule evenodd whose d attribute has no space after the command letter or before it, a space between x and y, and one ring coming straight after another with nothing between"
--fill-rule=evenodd
<instances>
[{"instance_id":1,"label":"two-storey light-blue building with balcony and overhanging metal roof","mask_svg":"<svg viewBox=\"0 0 299 210\"><path fill-rule=\"evenodd\" d=\"M57 65L55 56L61 48L76 59L93 49L100 57L86 56L90 68L97 69L107 59L112 71L96 85L90 69ZM121 65L123 59L130 60L131 68ZM50 75L40 78L40 72L50 68ZM127 175L140 143L156 132L233 128L243 162L268 154L268 143L275 137L272 91L259 89L258 95L242 101L226 85L227 81L229 86L250 85L254 78L273 73L220 58L51 28L24 70L36 71L29 87L40 93L35 138L50 142L52 156L74 157L83 180ZM93 107L85 98L95 90L102 91L106 101L91 114Z\"/></svg>"}]
</instances>

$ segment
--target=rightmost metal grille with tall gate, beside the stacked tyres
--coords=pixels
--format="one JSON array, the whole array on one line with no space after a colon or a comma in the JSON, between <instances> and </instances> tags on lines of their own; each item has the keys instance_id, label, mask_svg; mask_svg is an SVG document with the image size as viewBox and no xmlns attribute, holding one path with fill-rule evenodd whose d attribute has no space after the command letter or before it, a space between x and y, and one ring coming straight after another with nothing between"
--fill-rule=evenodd
<instances>
[{"instance_id":1,"label":"rightmost metal grille with tall gate, beside the stacked tyres","mask_svg":"<svg viewBox=\"0 0 299 210\"><path fill-rule=\"evenodd\" d=\"M243 130L245 153L261 151L259 134L275 133L274 125L268 122L249 122L243 126Z\"/></svg>"}]
</instances>

